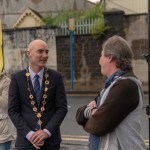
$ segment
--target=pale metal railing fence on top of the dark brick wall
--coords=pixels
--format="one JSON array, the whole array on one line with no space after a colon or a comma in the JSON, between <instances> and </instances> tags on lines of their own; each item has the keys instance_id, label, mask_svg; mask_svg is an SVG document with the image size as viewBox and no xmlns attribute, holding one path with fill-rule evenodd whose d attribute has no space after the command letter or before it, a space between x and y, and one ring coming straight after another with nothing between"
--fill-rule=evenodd
<instances>
[{"instance_id":1,"label":"pale metal railing fence on top of the dark brick wall","mask_svg":"<svg viewBox=\"0 0 150 150\"><path fill-rule=\"evenodd\" d=\"M93 27L95 23L98 21L104 21L104 20L102 18L76 20L74 35L92 34ZM68 23L60 23L59 27L55 29L55 33L57 36L69 35Z\"/></svg>"}]
</instances>

